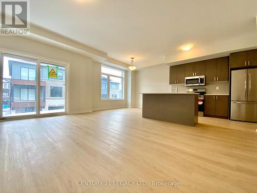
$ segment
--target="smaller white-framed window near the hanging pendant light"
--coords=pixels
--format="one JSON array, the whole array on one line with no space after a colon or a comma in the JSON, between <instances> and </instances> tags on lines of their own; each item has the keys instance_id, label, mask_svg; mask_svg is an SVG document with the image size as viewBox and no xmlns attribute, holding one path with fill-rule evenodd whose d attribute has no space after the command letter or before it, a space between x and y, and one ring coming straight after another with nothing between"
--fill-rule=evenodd
<instances>
[{"instance_id":1,"label":"smaller white-framed window near the hanging pendant light","mask_svg":"<svg viewBox=\"0 0 257 193\"><path fill-rule=\"evenodd\" d=\"M123 78L124 71L102 66L101 99L123 99Z\"/></svg>"}]
</instances>

